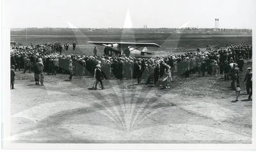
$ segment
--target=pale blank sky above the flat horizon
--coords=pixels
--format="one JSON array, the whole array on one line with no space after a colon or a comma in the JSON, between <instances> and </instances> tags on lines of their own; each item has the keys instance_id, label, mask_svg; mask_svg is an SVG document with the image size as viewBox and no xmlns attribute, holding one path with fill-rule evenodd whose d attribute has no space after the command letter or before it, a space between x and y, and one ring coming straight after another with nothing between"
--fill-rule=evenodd
<instances>
[{"instance_id":1,"label":"pale blank sky above the flat horizon","mask_svg":"<svg viewBox=\"0 0 256 152\"><path fill-rule=\"evenodd\" d=\"M123 27L127 10L133 27L252 28L255 0L5 0L10 27Z\"/></svg>"}]
</instances>

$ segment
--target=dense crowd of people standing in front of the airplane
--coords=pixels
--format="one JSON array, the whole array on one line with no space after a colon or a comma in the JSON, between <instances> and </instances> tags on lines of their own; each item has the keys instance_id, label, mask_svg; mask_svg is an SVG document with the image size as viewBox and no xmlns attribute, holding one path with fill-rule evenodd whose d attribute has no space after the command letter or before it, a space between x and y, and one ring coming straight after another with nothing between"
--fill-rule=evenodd
<instances>
[{"instance_id":1,"label":"dense crowd of people standing in front of the airplane","mask_svg":"<svg viewBox=\"0 0 256 152\"><path fill-rule=\"evenodd\" d=\"M68 50L68 43L64 44ZM73 49L76 44L73 44ZM104 89L102 79L137 79L138 84L145 81L146 84L154 83L156 86L169 87L172 73L180 77L189 77L197 73L200 77L212 75L221 79L231 80L230 87L236 90L239 86L239 73L243 72L244 59L252 59L252 45L230 45L195 52L187 52L179 55L164 57L128 57L128 56L77 56L75 54L61 55L61 44L47 43L45 45L31 45L30 47L12 47L11 65L13 71L23 69L23 72L35 72L36 84L43 72L56 75L67 73L82 78L84 75L94 75ZM252 75L252 68L248 70ZM248 72L248 73L250 73ZM249 75L249 74L248 74ZM249 98L252 96L252 80L246 78ZM252 76L251 76L252 77ZM247 85L248 84L248 85Z\"/></svg>"}]
</instances>

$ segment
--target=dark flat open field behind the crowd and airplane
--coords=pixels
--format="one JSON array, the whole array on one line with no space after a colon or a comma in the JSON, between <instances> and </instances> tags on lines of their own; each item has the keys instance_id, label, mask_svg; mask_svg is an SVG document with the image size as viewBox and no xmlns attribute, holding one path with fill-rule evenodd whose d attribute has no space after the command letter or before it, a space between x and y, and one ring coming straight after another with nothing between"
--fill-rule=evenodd
<instances>
[{"instance_id":1,"label":"dark flat open field behind the crowd and airplane","mask_svg":"<svg viewBox=\"0 0 256 152\"><path fill-rule=\"evenodd\" d=\"M180 52L195 51L196 47L205 48L206 45L212 47L223 47L230 44L252 44L251 33L232 33L232 32L204 32L204 31L180 31L172 33L156 32L90 32L86 33L79 29L44 31L43 29L34 29L30 31L11 31L11 40L22 43L22 45L43 44L49 42L77 43L76 54L86 56L93 55L93 47L88 41L105 42L150 42L161 45L160 48L150 48L148 51L153 56L165 56L169 54L179 54ZM98 46L98 55L103 55L104 47ZM72 49L70 45L69 50Z\"/></svg>"}]
</instances>

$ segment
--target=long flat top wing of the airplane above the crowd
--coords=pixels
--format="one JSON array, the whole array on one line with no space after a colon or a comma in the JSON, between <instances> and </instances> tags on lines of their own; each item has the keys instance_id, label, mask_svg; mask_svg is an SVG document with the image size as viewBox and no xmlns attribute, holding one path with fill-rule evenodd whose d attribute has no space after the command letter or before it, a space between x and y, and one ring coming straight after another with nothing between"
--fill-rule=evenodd
<instances>
[{"instance_id":1,"label":"long flat top wing of the airplane above the crowd","mask_svg":"<svg viewBox=\"0 0 256 152\"><path fill-rule=\"evenodd\" d=\"M129 47L160 47L157 43L137 43L137 42L87 42L87 43L92 43L95 45L113 45L113 44L120 44L120 45L126 45Z\"/></svg>"}]
</instances>

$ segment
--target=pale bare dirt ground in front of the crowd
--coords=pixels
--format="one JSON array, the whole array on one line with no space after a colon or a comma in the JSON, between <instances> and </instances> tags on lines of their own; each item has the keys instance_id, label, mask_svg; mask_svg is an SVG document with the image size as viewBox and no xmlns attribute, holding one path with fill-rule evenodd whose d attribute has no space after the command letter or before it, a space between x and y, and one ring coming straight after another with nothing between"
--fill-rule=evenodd
<instances>
[{"instance_id":1,"label":"pale bare dirt ground in front of the crowd","mask_svg":"<svg viewBox=\"0 0 256 152\"><path fill-rule=\"evenodd\" d=\"M245 64L244 69L251 64ZM245 71L245 70L244 70ZM252 143L252 101L245 72L235 102L230 81L174 76L170 89L136 80L104 80L16 72L11 90L12 142L58 143Z\"/></svg>"}]
</instances>

